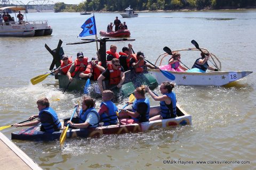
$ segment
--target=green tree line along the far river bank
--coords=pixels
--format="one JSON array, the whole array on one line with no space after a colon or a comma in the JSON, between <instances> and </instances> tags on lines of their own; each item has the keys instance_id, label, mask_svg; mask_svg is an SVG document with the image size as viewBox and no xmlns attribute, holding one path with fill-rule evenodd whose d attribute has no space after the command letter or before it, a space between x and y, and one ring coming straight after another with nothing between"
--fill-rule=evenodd
<instances>
[{"instance_id":1,"label":"green tree line along the far river bank","mask_svg":"<svg viewBox=\"0 0 256 170\"><path fill-rule=\"evenodd\" d=\"M255 0L87 0L79 5L55 3L55 12L124 11L131 5L134 11L156 10L220 10L255 7Z\"/></svg>"}]
</instances>

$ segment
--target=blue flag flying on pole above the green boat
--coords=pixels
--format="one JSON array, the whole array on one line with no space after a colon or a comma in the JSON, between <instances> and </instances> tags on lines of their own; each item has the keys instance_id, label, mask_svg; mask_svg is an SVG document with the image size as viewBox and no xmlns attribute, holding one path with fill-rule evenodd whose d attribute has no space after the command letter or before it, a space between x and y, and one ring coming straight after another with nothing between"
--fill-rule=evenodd
<instances>
[{"instance_id":1,"label":"blue flag flying on pole above the green boat","mask_svg":"<svg viewBox=\"0 0 256 170\"><path fill-rule=\"evenodd\" d=\"M97 34L94 16L87 19L81 28L83 28L83 31L79 34L79 37L86 37Z\"/></svg>"}]
</instances>

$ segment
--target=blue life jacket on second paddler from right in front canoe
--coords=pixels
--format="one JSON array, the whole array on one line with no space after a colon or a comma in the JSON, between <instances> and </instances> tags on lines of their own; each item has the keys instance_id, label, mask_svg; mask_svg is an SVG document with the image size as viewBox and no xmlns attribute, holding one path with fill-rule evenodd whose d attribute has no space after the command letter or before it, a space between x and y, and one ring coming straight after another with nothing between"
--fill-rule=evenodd
<instances>
[{"instance_id":1,"label":"blue life jacket on second paddler from right in front canoe","mask_svg":"<svg viewBox=\"0 0 256 170\"><path fill-rule=\"evenodd\" d=\"M139 115L138 117L134 118L132 117L132 119L136 122L148 122L149 120L149 111L150 111L150 103L149 103L149 100L148 98L145 98L145 99L135 99L135 101L133 102L133 105L132 105L132 112L136 112L137 109L138 109L138 104L140 103L146 103L148 108L147 108L147 112L146 112L146 115Z\"/></svg>"}]
</instances>

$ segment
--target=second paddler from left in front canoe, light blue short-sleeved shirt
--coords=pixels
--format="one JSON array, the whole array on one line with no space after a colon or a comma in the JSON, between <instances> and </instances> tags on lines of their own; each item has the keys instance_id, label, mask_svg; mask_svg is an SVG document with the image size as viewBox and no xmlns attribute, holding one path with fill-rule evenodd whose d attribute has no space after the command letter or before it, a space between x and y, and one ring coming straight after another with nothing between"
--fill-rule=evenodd
<instances>
[{"instance_id":1,"label":"second paddler from left in front canoe, light blue short-sleeved shirt","mask_svg":"<svg viewBox=\"0 0 256 170\"><path fill-rule=\"evenodd\" d=\"M98 127L100 116L94 108L94 100L91 97L83 97L82 109L76 110L79 118L78 123L68 121L69 125L73 128L95 128Z\"/></svg>"}]
</instances>

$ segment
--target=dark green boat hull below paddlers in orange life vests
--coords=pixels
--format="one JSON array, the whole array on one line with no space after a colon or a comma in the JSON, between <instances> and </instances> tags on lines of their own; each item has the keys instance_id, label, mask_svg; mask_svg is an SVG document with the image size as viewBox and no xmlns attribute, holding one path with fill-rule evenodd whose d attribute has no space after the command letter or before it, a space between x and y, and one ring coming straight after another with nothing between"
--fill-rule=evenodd
<instances>
[{"instance_id":1,"label":"dark green boat hull below paddlers in orange life vests","mask_svg":"<svg viewBox=\"0 0 256 170\"><path fill-rule=\"evenodd\" d=\"M58 75L59 79L59 87L60 88L66 88L69 80L66 75ZM140 81L138 81L140 80ZM86 80L85 79L74 79L69 87L68 91L83 91L85 86ZM107 87L108 81L103 81L103 88L104 89L111 89L115 92L115 96L118 97L129 97L135 90L135 88L141 86L142 84L149 86L150 89L155 89L158 87L158 83L154 77L152 77L149 73L137 75L137 77L131 81L131 72L126 71L125 72L125 81L123 83L123 86L121 89L117 87ZM91 81L90 86L90 96L91 97L101 97L99 85L97 81Z\"/></svg>"}]
</instances>

